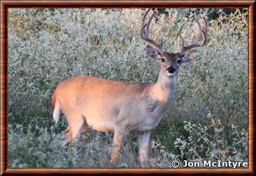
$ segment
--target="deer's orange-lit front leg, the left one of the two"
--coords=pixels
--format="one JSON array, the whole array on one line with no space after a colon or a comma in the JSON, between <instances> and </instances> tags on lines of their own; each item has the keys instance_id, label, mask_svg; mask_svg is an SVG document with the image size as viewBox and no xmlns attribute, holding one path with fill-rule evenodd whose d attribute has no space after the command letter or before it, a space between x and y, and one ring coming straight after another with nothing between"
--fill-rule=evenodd
<instances>
[{"instance_id":1,"label":"deer's orange-lit front leg, the left one of the two","mask_svg":"<svg viewBox=\"0 0 256 176\"><path fill-rule=\"evenodd\" d=\"M114 132L114 140L113 140L113 148L111 152L111 162L116 161L119 158L119 151L122 147L122 143L124 140L124 137L127 133L124 131L121 131L119 129L115 129Z\"/></svg>"}]
</instances>

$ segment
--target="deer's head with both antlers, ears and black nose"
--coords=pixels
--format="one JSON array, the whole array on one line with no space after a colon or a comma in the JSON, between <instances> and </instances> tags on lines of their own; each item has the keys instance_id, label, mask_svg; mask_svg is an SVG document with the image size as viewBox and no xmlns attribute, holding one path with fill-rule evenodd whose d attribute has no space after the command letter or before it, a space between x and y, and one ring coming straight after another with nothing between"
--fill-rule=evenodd
<instances>
[{"instance_id":1,"label":"deer's head with both antlers, ears and black nose","mask_svg":"<svg viewBox=\"0 0 256 176\"><path fill-rule=\"evenodd\" d=\"M150 39L148 36L148 29L150 26L150 22L152 21L153 17L155 16L155 12L153 15L149 18L148 22L145 22L146 16L148 14L150 9L148 9L145 14L142 17L142 23L141 23L141 37L143 40L147 41L150 43L152 46L147 45L147 54L158 60L160 65L161 65L161 74L164 74L167 77L175 77L178 72L180 66L185 63L185 62L191 62L194 60L194 58L197 55L196 50L192 50L190 52L189 49L197 47L197 46L203 46L206 42L206 33L207 33L207 21L205 18L204 20L204 26L201 26L201 23L196 20L196 23L199 26L199 36L197 38L197 42L184 46L184 39L181 38L181 51L178 53L169 53L163 50L163 41L161 39L160 43L158 44L154 40Z\"/></svg>"}]
</instances>

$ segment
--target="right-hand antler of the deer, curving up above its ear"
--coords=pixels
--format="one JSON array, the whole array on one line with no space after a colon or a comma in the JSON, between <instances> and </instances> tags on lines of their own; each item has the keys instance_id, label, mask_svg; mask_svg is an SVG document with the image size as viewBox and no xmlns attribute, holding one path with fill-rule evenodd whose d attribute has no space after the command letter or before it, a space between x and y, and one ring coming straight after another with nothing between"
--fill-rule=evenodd
<instances>
[{"instance_id":1,"label":"right-hand antler of the deer, curving up above its ear","mask_svg":"<svg viewBox=\"0 0 256 176\"><path fill-rule=\"evenodd\" d=\"M206 18L203 17L204 19L204 26L201 26L201 23L198 20L195 20L196 23L199 26L199 36L197 38L197 42L193 43L191 45L188 46L184 46L184 39L181 37L181 51L179 52L181 55L183 55L185 52L187 52L189 49L193 48L193 47L197 47L197 46L203 46L206 42L206 34L207 34L207 21Z\"/></svg>"}]
</instances>

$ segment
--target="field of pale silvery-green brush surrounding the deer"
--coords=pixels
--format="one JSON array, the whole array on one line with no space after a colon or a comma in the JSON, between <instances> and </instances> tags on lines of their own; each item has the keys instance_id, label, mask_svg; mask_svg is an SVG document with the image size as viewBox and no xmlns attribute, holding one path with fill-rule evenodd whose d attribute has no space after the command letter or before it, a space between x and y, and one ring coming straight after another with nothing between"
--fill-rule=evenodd
<instances>
[{"instance_id":1,"label":"field of pale silvery-green brush surrounding the deer","mask_svg":"<svg viewBox=\"0 0 256 176\"><path fill-rule=\"evenodd\" d=\"M213 9L166 9L150 33L178 52L196 40L195 19ZM137 134L126 136L110 164L112 132L89 130L61 147L65 117L54 125L55 87L79 74L155 83L160 65L139 37L145 9L9 9L9 167L139 167ZM174 101L150 137L149 167L176 159L248 160L248 11L208 21L207 43L177 77Z\"/></svg>"}]
</instances>

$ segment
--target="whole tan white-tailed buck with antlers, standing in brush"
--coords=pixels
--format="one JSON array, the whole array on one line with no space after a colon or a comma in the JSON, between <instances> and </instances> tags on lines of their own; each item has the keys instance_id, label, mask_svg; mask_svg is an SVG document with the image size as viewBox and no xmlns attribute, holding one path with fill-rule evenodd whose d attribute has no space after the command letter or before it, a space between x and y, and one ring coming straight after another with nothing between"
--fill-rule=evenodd
<instances>
[{"instance_id":1,"label":"whole tan white-tailed buck with antlers, standing in brush","mask_svg":"<svg viewBox=\"0 0 256 176\"><path fill-rule=\"evenodd\" d=\"M151 83L117 82L90 76L77 76L63 81L53 94L53 119L59 121L60 110L65 115L68 128L63 145L71 143L76 136L89 127L97 131L114 131L111 160L118 158L124 137L129 132L138 132L139 160L146 166L149 136L170 106L176 76L180 66L192 61L197 54L189 49L202 46L206 42L207 22L199 26L197 42L184 46L181 38L181 51L168 53L163 51L162 41L150 39L148 29L155 13L145 18L150 9L142 17L141 37L152 46L147 46L147 54L157 60L161 69L158 80Z\"/></svg>"}]
</instances>

